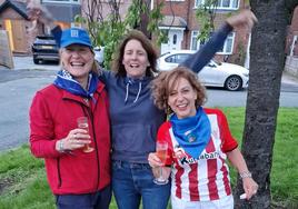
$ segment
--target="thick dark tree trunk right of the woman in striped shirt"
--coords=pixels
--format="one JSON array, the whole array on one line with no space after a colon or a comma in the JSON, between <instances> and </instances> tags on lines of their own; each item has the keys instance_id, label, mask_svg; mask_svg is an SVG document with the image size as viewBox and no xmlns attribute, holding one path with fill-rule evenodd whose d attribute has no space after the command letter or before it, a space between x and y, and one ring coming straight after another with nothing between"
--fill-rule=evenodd
<instances>
[{"instance_id":1,"label":"thick dark tree trunk right of the woman in striped shirt","mask_svg":"<svg viewBox=\"0 0 298 209\"><path fill-rule=\"evenodd\" d=\"M259 22L251 34L242 153L259 190L250 201L240 200L244 189L238 178L235 208L270 208L270 171L289 14L286 1L250 0Z\"/></svg>"}]
</instances>

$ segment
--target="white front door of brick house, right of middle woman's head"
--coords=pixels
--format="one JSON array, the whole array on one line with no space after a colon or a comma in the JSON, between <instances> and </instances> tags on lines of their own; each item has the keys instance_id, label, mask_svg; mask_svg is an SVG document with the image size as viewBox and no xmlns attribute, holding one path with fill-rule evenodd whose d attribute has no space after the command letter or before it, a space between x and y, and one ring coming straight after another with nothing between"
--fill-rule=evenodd
<instances>
[{"instance_id":1,"label":"white front door of brick house, right of middle woman's head","mask_svg":"<svg viewBox=\"0 0 298 209\"><path fill-rule=\"evenodd\" d=\"M181 42L183 39L183 31L182 30L169 30L168 31L168 42L161 43L160 52L166 53L171 50L180 50Z\"/></svg>"}]
</instances>

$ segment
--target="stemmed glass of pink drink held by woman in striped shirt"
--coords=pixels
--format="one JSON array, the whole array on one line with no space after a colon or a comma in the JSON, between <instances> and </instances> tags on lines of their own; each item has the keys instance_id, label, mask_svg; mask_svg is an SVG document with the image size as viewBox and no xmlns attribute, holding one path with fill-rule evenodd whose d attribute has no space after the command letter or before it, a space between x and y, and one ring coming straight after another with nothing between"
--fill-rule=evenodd
<instances>
[{"instance_id":1,"label":"stemmed glass of pink drink held by woman in striped shirt","mask_svg":"<svg viewBox=\"0 0 298 209\"><path fill-rule=\"evenodd\" d=\"M162 166L166 163L167 159L167 150L168 150L168 142L166 141L157 141L156 151L157 157L160 159ZM159 167L159 175L155 178L153 182L157 185L167 185L169 180L162 176L162 167Z\"/></svg>"}]
</instances>

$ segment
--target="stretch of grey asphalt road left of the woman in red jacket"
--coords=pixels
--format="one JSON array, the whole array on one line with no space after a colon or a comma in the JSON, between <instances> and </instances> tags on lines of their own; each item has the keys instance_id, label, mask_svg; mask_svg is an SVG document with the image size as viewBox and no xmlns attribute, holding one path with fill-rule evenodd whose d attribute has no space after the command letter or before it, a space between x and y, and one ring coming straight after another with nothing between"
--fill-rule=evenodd
<instances>
[{"instance_id":1,"label":"stretch of grey asphalt road left of the woman in red jacket","mask_svg":"<svg viewBox=\"0 0 298 209\"><path fill-rule=\"evenodd\" d=\"M0 71L0 151L28 142L28 111L32 97L54 79L56 72L14 73Z\"/></svg>"}]
</instances>

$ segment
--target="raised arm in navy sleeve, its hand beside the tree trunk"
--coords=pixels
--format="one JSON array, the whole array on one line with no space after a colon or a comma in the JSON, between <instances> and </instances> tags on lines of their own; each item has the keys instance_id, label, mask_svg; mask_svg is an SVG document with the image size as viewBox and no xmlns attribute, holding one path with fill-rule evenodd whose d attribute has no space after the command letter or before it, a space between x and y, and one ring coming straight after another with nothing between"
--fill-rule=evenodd
<instances>
[{"instance_id":1,"label":"raised arm in navy sleeve, its hand beside the tree trunk","mask_svg":"<svg viewBox=\"0 0 298 209\"><path fill-rule=\"evenodd\" d=\"M187 67L195 72L199 72L224 46L226 38L237 27L247 27L251 29L257 18L250 10L244 10L226 20L222 27L217 30L209 41L203 44L196 53L191 54L180 66Z\"/></svg>"}]
</instances>

